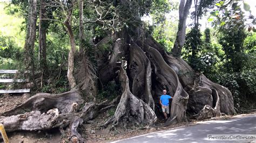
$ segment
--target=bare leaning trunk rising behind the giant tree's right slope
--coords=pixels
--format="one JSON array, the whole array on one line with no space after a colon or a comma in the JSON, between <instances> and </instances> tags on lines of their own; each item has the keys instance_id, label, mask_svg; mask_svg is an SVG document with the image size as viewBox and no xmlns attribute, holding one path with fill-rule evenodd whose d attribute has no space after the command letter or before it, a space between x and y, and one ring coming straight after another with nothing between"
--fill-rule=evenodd
<instances>
[{"instance_id":1,"label":"bare leaning trunk rising behind the giant tree's right slope","mask_svg":"<svg viewBox=\"0 0 256 143\"><path fill-rule=\"evenodd\" d=\"M172 55L174 57L181 56L181 49L185 43L186 19L188 16L188 12L190 11L191 4L192 4L192 0L181 0L179 4L178 32L177 32L177 37L172 49Z\"/></svg>"}]
</instances>

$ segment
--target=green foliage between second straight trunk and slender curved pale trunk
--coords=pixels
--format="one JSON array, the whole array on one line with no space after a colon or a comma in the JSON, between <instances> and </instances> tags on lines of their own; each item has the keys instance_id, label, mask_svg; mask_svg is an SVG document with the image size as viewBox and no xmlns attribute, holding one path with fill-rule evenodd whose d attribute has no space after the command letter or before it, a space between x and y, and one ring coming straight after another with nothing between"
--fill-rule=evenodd
<instances>
[{"instance_id":1,"label":"green foliage between second straight trunk and slender curved pale trunk","mask_svg":"<svg viewBox=\"0 0 256 143\"><path fill-rule=\"evenodd\" d=\"M69 90L69 83L66 78L70 49L69 37L64 32L60 32L62 25L59 23L51 23L48 30L46 36L48 72L45 75L47 81L41 90L42 92L58 94ZM35 48L35 57L38 57L38 44ZM38 59L35 62L39 63Z\"/></svg>"}]
</instances>

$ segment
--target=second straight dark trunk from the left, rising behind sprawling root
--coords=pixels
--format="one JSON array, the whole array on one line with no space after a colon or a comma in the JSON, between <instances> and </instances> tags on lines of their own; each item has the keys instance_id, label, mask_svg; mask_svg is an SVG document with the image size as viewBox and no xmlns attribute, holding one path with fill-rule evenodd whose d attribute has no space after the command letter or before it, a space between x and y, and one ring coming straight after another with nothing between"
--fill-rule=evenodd
<instances>
[{"instance_id":1,"label":"second straight dark trunk from the left, rising behind sprawling root","mask_svg":"<svg viewBox=\"0 0 256 143\"><path fill-rule=\"evenodd\" d=\"M46 60L46 29L48 28L48 21L46 19L46 5L45 0L41 0L39 11L39 63L41 70L41 88L44 84L45 73L47 72Z\"/></svg>"}]
</instances>

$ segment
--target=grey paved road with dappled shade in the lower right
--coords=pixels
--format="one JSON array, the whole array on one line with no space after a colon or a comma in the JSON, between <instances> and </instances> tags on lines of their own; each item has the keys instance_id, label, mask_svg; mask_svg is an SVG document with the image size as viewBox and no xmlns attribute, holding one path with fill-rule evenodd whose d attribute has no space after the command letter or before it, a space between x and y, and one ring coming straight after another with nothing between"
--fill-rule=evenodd
<instances>
[{"instance_id":1,"label":"grey paved road with dappled shade in the lower right","mask_svg":"<svg viewBox=\"0 0 256 143\"><path fill-rule=\"evenodd\" d=\"M197 125L180 127L171 130L159 131L140 135L114 142L255 142L254 141L223 141L209 140L207 134L254 134L256 135L256 114L238 116L229 120L211 120L198 122Z\"/></svg>"}]
</instances>

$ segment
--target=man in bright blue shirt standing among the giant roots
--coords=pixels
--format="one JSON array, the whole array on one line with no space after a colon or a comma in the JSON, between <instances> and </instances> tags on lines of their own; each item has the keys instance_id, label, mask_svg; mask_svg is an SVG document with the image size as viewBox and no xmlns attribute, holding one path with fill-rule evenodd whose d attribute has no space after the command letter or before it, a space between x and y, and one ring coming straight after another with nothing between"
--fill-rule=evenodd
<instances>
[{"instance_id":1,"label":"man in bright blue shirt standing among the giant roots","mask_svg":"<svg viewBox=\"0 0 256 143\"><path fill-rule=\"evenodd\" d=\"M171 98L171 96L166 95L166 90L163 90L163 95L160 97L160 104L164 113L165 120L167 119L167 114L169 114L169 99Z\"/></svg>"}]
</instances>

